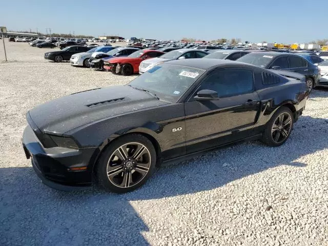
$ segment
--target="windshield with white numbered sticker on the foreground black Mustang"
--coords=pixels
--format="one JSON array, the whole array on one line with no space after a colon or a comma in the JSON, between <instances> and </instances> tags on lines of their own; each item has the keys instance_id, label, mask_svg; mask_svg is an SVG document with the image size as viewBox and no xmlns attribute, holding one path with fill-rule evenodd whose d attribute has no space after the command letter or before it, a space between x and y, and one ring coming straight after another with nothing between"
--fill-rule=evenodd
<instances>
[{"instance_id":1,"label":"windshield with white numbered sticker on the foreground black Mustang","mask_svg":"<svg viewBox=\"0 0 328 246\"><path fill-rule=\"evenodd\" d=\"M129 85L176 103L203 72L204 70L191 67L162 64L135 78Z\"/></svg>"}]
</instances>

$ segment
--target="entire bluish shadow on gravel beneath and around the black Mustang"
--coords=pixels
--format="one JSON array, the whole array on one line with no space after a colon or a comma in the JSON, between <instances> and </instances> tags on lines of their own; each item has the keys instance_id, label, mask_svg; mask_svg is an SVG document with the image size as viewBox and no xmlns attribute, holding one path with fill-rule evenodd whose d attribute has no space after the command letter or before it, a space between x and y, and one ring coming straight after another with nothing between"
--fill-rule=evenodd
<instances>
[{"instance_id":1,"label":"entire bluish shadow on gravel beneath and around the black Mustang","mask_svg":"<svg viewBox=\"0 0 328 246\"><path fill-rule=\"evenodd\" d=\"M148 228L129 200L213 190L284 165L303 168L300 157L328 148L327 133L328 120L302 116L281 147L253 141L219 149L158 168L143 187L122 195L97 187L60 192L32 168L0 169L0 245L147 245L141 232Z\"/></svg>"}]
</instances>

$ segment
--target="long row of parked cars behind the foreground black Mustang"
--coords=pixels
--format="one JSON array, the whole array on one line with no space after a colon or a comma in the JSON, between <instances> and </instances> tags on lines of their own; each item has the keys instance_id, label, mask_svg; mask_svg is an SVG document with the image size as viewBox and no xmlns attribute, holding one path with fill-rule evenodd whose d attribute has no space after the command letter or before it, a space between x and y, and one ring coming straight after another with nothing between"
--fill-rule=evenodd
<instances>
[{"instance_id":1,"label":"long row of parked cars behind the foreground black Mustang","mask_svg":"<svg viewBox=\"0 0 328 246\"><path fill-rule=\"evenodd\" d=\"M60 43L67 45L67 42ZM60 45L59 44L59 45ZM169 60L210 58L237 60L261 68L285 70L305 75L306 84L312 90L316 86L328 86L328 61L325 52L268 51L251 49L180 49L179 47L138 46L115 47L73 45L60 51L46 52L45 58L55 62L69 60L72 66L82 66L110 71L114 74L142 74ZM321 57L320 57L321 55Z\"/></svg>"}]
</instances>

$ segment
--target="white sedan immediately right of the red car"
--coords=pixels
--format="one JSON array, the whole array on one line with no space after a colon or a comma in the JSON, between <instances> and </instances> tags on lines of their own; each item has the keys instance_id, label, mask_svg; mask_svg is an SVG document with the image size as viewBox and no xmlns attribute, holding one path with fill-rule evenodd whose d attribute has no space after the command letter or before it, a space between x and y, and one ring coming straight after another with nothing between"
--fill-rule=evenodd
<instances>
[{"instance_id":1,"label":"white sedan immediately right of the red car","mask_svg":"<svg viewBox=\"0 0 328 246\"><path fill-rule=\"evenodd\" d=\"M163 54L156 58L147 59L141 61L139 66L139 74L147 72L149 69L169 60L177 60L177 59L190 59L190 58L202 58L206 56L208 53L201 50L194 49L179 49L172 50L166 54Z\"/></svg>"}]
</instances>

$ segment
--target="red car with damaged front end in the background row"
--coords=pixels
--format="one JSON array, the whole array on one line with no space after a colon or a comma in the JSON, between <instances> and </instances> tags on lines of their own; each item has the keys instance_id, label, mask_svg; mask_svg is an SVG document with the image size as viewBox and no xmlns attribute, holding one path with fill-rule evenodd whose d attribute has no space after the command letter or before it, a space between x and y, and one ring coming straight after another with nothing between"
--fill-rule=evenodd
<instances>
[{"instance_id":1,"label":"red car with damaged front end in the background row","mask_svg":"<svg viewBox=\"0 0 328 246\"><path fill-rule=\"evenodd\" d=\"M131 75L139 73L139 65L141 61L149 58L158 57L164 52L157 50L137 50L126 57L111 58L104 62L104 69L113 73L121 73L122 75Z\"/></svg>"}]
</instances>

